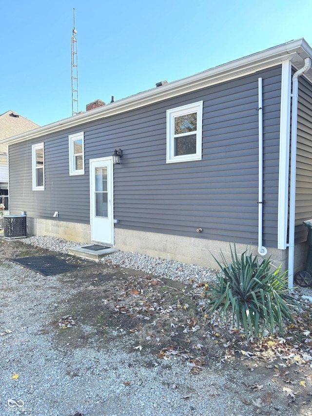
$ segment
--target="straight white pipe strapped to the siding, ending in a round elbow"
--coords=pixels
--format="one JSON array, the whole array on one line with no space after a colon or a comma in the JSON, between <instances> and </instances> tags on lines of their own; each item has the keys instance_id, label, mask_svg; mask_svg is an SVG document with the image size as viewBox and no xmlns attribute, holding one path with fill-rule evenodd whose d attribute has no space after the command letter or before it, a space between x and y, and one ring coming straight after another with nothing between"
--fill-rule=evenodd
<instances>
[{"instance_id":1,"label":"straight white pipe strapped to the siding, ending in a round elbow","mask_svg":"<svg viewBox=\"0 0 312 416\"><path fill-rule=\"evenodd\" d=\"M268 250L262 245L263 236L263 117L262 117L262 78L258 78L258 118L259 118L259 185L258 185L258 253L265 256Z\"/></svg>"}]
</instances>

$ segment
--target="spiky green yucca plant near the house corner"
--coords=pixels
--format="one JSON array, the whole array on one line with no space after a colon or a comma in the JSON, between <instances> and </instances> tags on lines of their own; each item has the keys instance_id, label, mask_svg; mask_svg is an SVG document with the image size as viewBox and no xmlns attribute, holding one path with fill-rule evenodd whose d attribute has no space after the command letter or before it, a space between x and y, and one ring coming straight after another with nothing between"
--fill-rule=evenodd
<instances>
[{"instance_id":1,"label":"spiky green yucca plant near the house corner","mask_svg":"<svg viewBox=\"0 0 312 416\"><path fill-rule=\"evenodd\" d=\"M289 292L287 272L281 272L280 267L274 270L270 258L259 262L256 256L247 255L247 251L237 255L235 245L234 250L232 246L230 249L230 264L222 252L221 263L215 258L221 273L209 290L205 309L210 313L219 310L225 318L232 312L233 320L236 318L237 325L244 328L247 340L249 334L258 337L264 329L272 333L275 325L283 336L283 320L293 322L292 309L302 307Z\"/></svg>"}]
</instances>

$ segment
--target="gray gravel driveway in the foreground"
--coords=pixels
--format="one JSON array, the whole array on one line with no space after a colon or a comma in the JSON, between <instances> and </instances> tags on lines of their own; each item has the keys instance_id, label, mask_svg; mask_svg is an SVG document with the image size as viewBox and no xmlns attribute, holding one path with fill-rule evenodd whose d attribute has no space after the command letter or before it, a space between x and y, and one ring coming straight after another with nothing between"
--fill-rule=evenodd
<instances>
[{"instance_id":1,"label":"gray gravel driveway in the foreground","mask_svg":"<svg viewBox=\"0 0 312 416\"><path fill-rule=\"evenodd\" d=\"M144 273L95 263L43 277L7 260L35 253L51 254L0 239L1 416L312 414L303 399L289 405L264 364L214 352L192 374L183 354L159 358L142 343L120 308L116 320L105 315L108 288Z\"/></svg>"}]
</instances>

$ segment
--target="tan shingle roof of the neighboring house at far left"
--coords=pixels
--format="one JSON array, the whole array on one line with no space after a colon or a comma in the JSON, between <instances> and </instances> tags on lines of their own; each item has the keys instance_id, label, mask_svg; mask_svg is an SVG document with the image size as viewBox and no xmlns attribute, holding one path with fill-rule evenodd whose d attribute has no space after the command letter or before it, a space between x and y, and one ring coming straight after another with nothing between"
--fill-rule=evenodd
<instances>
[{"instance_id":1,"label":"tan shingle roof of the neighboring house at far left","mask_svg":"<svg viewBox=\"0 0 312 416\"><path fill-rule=\"evenodd\" d=\"M0 115L0 154L7 154L8 146L1 144L2 139L16 136L17 134L27 132L39 127L39 124L34 123L20 114L12 110Z\"/></svg>"}]
</instances>

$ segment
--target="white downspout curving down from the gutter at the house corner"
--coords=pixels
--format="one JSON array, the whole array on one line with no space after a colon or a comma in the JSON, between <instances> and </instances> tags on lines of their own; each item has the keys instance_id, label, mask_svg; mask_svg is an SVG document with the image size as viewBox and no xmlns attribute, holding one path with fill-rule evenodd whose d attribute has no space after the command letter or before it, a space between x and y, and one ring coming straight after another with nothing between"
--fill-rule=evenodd
<instances>
[{"instance_id":1,"label":"white downspout curving down from the gutter at the house corner","mask_svg":"<svg viewBox=\"0 0 312 416\"><path fill-rule=\"evenodd\" d=\"M311 59L304 60L303 68L292 76L292 127L291 127L291 173L289 198L289 243L288 243L288 287L293 287L294 268L294 226L296 204L296 162L297 162L297 116L298 116L298 78L311 67Z\"/></svg>"}]
</instances>

